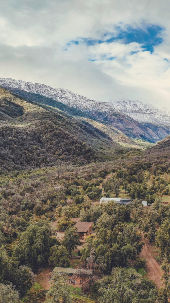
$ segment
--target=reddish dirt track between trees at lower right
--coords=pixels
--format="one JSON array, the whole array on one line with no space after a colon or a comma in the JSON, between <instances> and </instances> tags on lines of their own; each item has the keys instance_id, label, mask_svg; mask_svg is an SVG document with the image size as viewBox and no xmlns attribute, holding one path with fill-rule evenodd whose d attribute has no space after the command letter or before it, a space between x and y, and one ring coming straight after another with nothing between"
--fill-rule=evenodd
<instances>
[{"instance_id":1,"label":"reddish dirt track between trees at lower right","mask_svg":"<svg viewBox=\"0 0 170 303\"><path fill-rule=\"evenodd\" d=\"M141 258L146 259L146 271L147 274L145 275L146 278L149 278L150 280L153 280L157 288L160 288L162 286L163 281L160 281L160 278L162 277L163 272L160 270L160 265L152 256L152 246L149 245L147 242L147 239L144 239L144 234L142 235L142 241L145 243L145 245L142 248L142 251L140 253Z\"/></svg>"}]
</instances>

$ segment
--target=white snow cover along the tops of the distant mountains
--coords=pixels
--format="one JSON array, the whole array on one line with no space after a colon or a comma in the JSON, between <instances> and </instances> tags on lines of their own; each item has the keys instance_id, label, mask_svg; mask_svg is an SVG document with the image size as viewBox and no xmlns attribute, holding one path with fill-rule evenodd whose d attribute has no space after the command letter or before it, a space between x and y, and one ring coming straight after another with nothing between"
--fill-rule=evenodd
<instances>
[{"instance_id":1,"label":"white snow cover along the tops of the distant mountains","mask_svg":"<svg viewBox=\"0 0 170 303\"><path fill-rule=\"evenodd\" d=\"M98 112L106 118L111 115L125 118L131 123L138 121L139 123L149 123L157 126L170 126L170 112L140 101L100 102L70 92L68 89L52 88L40 83L34 84L11 78L0 78L0 85L43 95L90 114L95 115Z\"/></svg>"}]
</instances>

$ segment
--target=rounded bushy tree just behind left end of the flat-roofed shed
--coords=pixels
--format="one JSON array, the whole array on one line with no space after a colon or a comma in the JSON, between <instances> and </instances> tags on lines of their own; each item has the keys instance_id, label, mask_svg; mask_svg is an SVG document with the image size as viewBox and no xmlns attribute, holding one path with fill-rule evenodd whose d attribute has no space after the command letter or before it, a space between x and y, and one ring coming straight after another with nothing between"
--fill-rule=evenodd
<instances>
[{"instance_id":1,"label":"rounded bushy tree just behind left end of the flat-roofed shed","mask_svg":"<svg viewBox=\"0 0 170 303\"><path fill-rule=\"evenodd\" d=\"M54 245L50 248L50 257L48 263L53 266L68 267L70 266L69 254L63 245Z\"/></svg>"}]
</instances>

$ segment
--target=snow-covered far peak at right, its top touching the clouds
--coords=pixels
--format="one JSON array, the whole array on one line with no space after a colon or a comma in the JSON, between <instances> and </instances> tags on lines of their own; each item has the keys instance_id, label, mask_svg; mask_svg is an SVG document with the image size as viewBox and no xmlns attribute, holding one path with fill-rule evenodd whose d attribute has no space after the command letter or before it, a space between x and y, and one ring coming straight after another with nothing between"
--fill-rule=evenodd
<instances>
[{"instance_id":1,"label":"snow-covered far peak at right, its top touching the clouds","mask_svg":"<svg viewBox=\"0 0 170 303\"><path fill-rule=\"evenodd\" d=\"M116 101L113 103L116 110L124 113L140 123L149 123L158 126L170 126L170 112L156 108L151 104L140 101Z\"/></svg>"}]
</instances>

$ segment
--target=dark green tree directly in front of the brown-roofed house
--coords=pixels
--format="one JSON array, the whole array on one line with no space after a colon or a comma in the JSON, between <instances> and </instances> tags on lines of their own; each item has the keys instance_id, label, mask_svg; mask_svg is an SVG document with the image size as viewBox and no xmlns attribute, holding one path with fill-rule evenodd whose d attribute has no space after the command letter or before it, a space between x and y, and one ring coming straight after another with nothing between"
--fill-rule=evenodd
<instances>
[{"instance_id":1,"label":"dark green tree directly in front of the brown-roofed house","mask_svg":"<svg viewBox=\"0 0 170 303\"><path fill-rule=\"evenodd\" d=\"M63 239L63 245L68 249L69 254L71 255L72 249L77 249L77 245L80 245L80 237L77 234L78 228L68 226Z\"/></svg>"}]
</instances>

